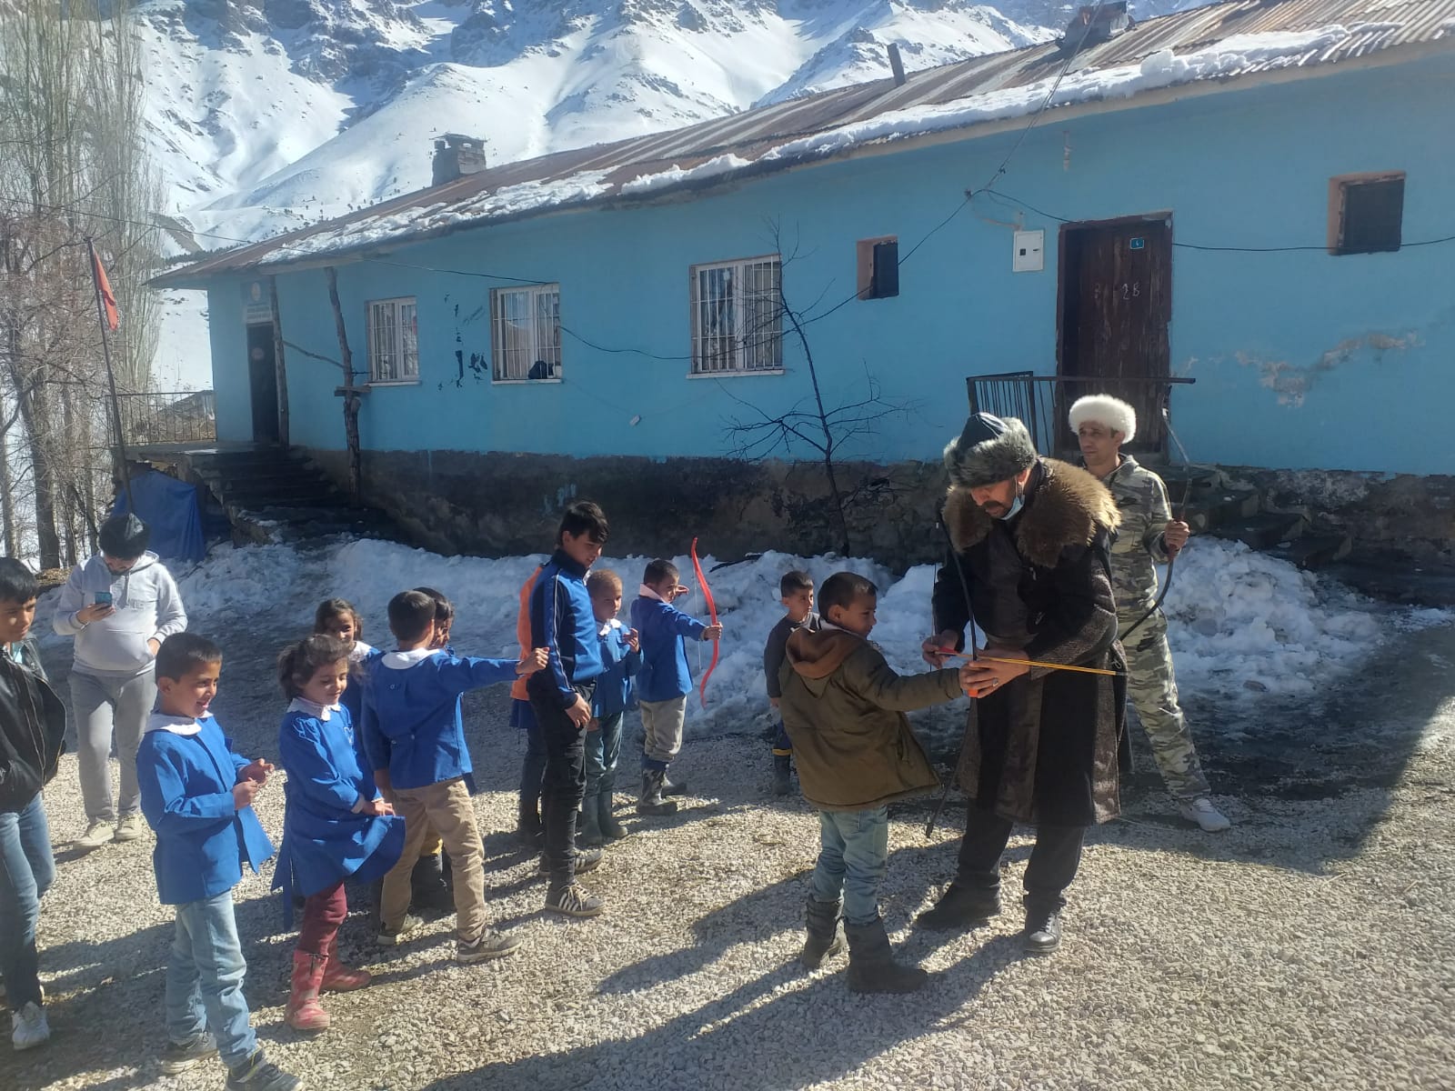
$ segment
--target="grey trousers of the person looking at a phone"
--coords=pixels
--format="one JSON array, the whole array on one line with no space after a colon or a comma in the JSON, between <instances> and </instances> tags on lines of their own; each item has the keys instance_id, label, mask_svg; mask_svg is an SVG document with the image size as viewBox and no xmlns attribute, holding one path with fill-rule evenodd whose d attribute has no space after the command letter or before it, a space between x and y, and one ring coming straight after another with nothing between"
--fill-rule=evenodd
<instances>
[{"instance_id":1,"label":"grey trousers of the person looking at a phone","mask_svg":"<svg viewBox=\"0 0 1455 1091\"><path fill-rule=\"evenodd\" d=\"M115 822L118 815L135 815L141 809L137 748L156 701L157 678L151 671L135 678L97 678L71 671L71 714L87 822ZM121 796L115 806L111 802L113 729L121 759Z\"/></svg>"}]
</instances>

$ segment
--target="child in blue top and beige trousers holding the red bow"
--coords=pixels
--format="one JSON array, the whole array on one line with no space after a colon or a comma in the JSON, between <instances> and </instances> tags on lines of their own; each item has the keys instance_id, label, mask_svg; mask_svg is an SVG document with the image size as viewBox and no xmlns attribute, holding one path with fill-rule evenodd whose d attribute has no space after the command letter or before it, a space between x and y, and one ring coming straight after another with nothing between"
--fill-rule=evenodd
<instances>
[{"instance_id":1,"label":"child in blue top and beige trousers holding the red bow","mask_svg":"<svg viewBox=\"0 0 1455 1091\"><path fill-rule=\"evenodd\" d=\"M704 626L684 614L672 601L685 595L677 566L653 560L646 566L637 599L631 604L631 627L642 639L642 671L637 675L637 704L646 735L642 751L642 797L637 815L672 815L677 804L663 796L679 796L685 784L669 784L666 767L682 749L687 695L693 672L687 666L687 639L720 640L722 626Z\"/></svg>"}]
</instances>

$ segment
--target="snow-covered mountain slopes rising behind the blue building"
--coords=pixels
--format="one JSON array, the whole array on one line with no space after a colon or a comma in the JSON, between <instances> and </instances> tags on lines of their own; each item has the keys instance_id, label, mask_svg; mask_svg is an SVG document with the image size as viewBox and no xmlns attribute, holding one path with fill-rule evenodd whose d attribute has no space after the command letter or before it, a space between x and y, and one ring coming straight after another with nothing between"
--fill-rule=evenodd
<instances>
[{"instance_id":1,"label":"snow-covered mountain slopes rising behind the blue building","mask_svg":"<svg viewBox=\"0 0 1455 1091\"><path fill-rule=\"evenodd\" d=\"M1139 0L1141 16L1199 0ZM148 140L173 231L252 240L429 183L432 138L492 163L1056 36L1056 0L144 0ZM191 249L191 247L188 247ZM159 380L205 384L195 307ZM186 358L182 374L182 358Z\"/></svg>"}]
</instances>

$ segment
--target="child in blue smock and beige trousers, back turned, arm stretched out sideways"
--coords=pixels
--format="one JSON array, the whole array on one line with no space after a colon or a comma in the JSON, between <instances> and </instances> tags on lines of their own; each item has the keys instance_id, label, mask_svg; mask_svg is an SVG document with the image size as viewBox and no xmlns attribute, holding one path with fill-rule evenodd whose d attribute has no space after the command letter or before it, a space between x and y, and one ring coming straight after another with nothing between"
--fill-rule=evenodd
<instances>
[{"instance_id":1,"label":"child in blue smock and beige trousers, back turned, arm stretched out sideways","mask_svg":"<svg viewBox=\"0 0 1455 1091\"><path fill-rule=\"evenodd\" d=\"M474 659L432 647L435 602L419 591L388 601L399 650L368 663L364 684L364 752L374 781L404 819L404 848L384 876L378 941L393 946L419 927L409 916L410 873L434 828L454 870L455 962L509 954L519 940L495 931L485 915L485 850L470 803L470 749L460 695L540 669L544 652L512 659Z\"/></svg>"}]
</instances>

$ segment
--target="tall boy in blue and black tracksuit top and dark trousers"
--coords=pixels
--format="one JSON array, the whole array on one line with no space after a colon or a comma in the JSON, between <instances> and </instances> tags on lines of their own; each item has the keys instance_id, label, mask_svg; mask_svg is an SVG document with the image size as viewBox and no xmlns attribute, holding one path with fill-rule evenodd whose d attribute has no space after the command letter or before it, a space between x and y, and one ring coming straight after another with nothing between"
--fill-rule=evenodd
<instances>
[{"instance_id":1,"label":"tall boy in blue and black tracksuit top and dark trousers","mask_svg":"<svg viewBox=\"0 0 1455 1091\"><path fill-rule=\"evenodd\" d=\"M576 882L578 871L601 863L599 851L576 848L576 812L586 790L585 736L602 668L586 572L601 557L608 531L607 516L597 505L581 500L566 508L556 531L556 551L531 588L531 643L550 649L549 669L527 682L535 726L546 743L541 778L541 825L550 873L546 909L562 916L599 916L605 908L601 898Z\"/></svg>"}]
</instances>

